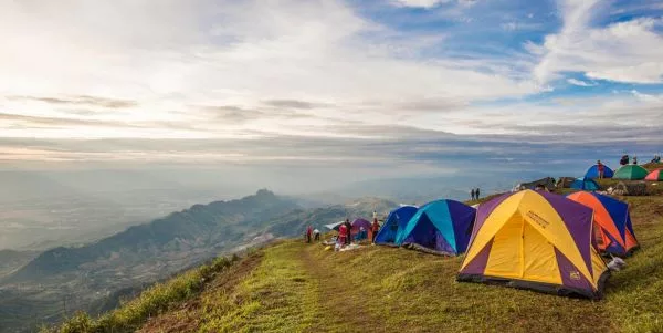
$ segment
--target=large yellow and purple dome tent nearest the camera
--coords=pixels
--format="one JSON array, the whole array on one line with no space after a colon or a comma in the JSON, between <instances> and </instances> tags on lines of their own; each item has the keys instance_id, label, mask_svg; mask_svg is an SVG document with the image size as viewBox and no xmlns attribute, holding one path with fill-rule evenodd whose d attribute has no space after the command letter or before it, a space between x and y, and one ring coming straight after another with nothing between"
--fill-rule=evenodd
<instances>
[{"instance_id":1,"label":"large yellow and purple dome tent nearest the camera","mask_svg":"<svg viewBox=\"0 0 663 333\"><path fill-rule=\"evenodd\" d=\"M591 241L592 215L583 205L545 191L485 202L457 280L600 299L610 271Z\"/></svg>"}]
</instances>

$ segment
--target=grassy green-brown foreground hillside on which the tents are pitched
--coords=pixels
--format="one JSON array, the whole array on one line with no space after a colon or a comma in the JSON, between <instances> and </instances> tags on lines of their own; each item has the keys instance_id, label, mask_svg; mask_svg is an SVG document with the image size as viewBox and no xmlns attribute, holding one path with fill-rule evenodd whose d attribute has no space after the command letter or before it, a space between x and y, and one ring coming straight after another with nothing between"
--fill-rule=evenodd
<instances>
[{"instance_id":1,"label":"grassy green-brown foreground hillside on which the tents are pitched","mask_svg":"<svg viewBox=\"0 0 663 333\"><path fill-rule=\"evenodd\" d=\"M249 256L199 295L134 327L150 333L662 332L663 196L622 199L632 206L642 249L613 273L602 301L457 283L462 258L385 247L333 252L292 240Z\"/></svg>"}]
</instances>

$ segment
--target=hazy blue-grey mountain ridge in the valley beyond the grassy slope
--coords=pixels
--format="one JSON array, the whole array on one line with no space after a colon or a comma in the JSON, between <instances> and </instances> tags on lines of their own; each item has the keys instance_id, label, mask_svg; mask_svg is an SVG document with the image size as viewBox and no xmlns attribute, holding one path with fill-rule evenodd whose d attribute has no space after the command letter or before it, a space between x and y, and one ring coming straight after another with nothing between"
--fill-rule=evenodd
<instances>
[{"instance_id":1,"label":"hazy blue-grey mountain ridge in the valley beyond the grassy slope","mask_svg":"<svg viewBox=\"0 0 663 333\"><path fill-rule=\"evenodd\" d=\"M13 269L24 266L0 284L0 332L55 322L76 310L103 313L150 283L220 253L294 237L307 223L322 228L394 206L366 198L307 210L293 199L260 190L238 200L194 205L83 247L33 253L14 263Z\"/></svg>"}]
</instances>

